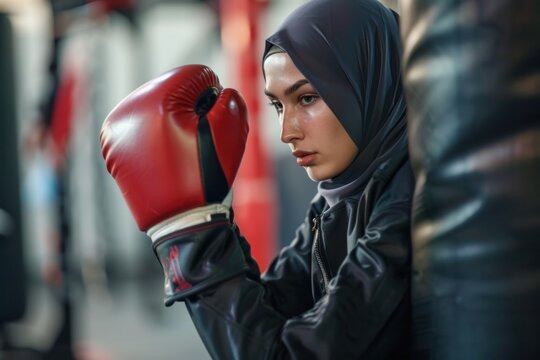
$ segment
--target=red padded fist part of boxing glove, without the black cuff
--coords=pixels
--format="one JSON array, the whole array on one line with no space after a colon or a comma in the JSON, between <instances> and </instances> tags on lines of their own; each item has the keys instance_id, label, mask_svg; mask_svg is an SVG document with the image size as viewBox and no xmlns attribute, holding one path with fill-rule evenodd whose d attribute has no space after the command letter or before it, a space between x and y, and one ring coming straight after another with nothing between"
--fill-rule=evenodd
<instances>
[{"instance_id":1,"label":"red padded fist part of boxing glove, without the black cuff","mask_svg":"<svg viewBox=\"0 0 540 360\"><path fill-rule=\"evenodd\" d=\"M129 94L108 115L100 140L139 228L155 241L194 224L161 231L179 214L224 200L247 134L240 94L223 89L210 68L186 65ZM149 231L156 226L157 234Z\"/></svg>"}]
</instances>

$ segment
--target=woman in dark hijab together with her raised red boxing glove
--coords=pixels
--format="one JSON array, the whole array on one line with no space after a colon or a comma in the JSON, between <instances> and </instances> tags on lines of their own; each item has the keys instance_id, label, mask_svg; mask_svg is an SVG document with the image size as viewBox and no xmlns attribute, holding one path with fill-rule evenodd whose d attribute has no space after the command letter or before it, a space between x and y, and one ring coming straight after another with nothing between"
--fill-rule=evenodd
<instances>
[{"instance_id":1,"label":"woman in dark hijab together with her raised red boxing glove","mask_svg":"<svg viewBox=\"0 0 540 360\"><path fill-rule=\"evenodd\" d=\"M248 131L240 94L183 66L107 117L107 168L152 239L165 304L185 303L213 358L410 357L400 61L398 15L375 0L310 1L266 40L281 141L318 193L264 274L230 208Z\"/></svg>"}]
</instances>

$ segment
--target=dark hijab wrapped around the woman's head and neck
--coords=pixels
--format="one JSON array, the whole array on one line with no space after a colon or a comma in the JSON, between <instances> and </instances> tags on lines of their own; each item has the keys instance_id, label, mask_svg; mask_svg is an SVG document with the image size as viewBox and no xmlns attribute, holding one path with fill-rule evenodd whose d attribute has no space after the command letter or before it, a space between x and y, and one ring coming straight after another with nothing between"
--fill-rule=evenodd
<instances>
[{"instance_id":1,"label":"dark hijab wrapped around the woman's head and neck","mask_svg":"<svg viewBox=\"0 0 540 360\"><path fill-rule=\"evenodd\" d=\"M275 46L289 54L358 146L345 171L319 182L332 206L407 152L398 15L377 0L312 0L266 40L263 59Z\"/></svg>"}]
</instances>

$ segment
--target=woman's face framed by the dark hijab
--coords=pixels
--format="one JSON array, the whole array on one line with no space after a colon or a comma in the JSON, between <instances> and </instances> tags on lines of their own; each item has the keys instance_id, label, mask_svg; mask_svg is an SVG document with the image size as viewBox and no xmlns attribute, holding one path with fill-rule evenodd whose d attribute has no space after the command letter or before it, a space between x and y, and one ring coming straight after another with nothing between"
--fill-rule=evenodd
<instances>
[{"instance_id":1,"label":"woman's face framed by the dark hijab","mask_svg":"<svg viewBox=\"0 0 540 360\"><path fill-rule=\"evenodd\" d=\"M264 62L265 94L277 111L281 141L314 181L333 178L352 162L358 148L332 110L287 53Z\"/></svg>"}]
</instances>

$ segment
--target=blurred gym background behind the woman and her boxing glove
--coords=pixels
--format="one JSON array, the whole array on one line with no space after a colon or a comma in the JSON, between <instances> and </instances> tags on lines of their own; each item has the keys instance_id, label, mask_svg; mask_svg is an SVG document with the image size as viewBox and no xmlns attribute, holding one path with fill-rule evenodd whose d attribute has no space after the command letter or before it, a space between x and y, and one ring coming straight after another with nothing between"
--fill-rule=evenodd
<instances>
[{"instance_id":1,"label":"blurred gym background behind the woman and her boxing glove","mask_svg":"<svg viewBox=\"0 0 540 360\"><path fill-rule=\"evenodd\" d=\"M260 72L263 39L302 2L0 0L0 359L209 358L183 304L163 305L101 123L183 64L240 90L251 133L235 209L264 270L316 191L279 142Z\"/></svg>"}]
</instances>

